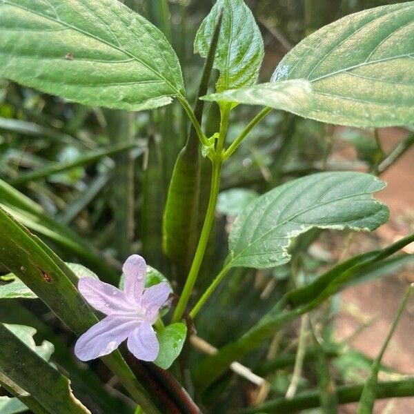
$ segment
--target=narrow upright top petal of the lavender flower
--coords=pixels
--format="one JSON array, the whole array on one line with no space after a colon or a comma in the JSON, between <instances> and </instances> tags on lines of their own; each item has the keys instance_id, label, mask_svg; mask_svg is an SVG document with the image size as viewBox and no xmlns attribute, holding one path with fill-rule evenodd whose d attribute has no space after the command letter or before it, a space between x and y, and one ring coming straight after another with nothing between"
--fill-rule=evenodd
<instances>
[{"instance_id":1,"label":"narrow upright top petal of the lavender flower","mask_svg":"<svg viewBox=\"0 0 414 414\"><path fill-rule=\"evenodd\" d=\"M146 279L146 263L139 255L132 255L126 259L122 270L125 275L124 291L129 299L141 303Z\"/></svg>"}]
</instances>

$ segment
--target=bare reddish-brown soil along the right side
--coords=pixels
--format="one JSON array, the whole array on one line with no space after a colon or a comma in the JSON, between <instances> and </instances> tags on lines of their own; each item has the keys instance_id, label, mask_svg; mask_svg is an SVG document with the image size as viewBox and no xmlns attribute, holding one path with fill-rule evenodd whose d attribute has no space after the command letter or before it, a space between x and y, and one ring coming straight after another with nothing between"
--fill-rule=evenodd
<instances>
[{"instance_id":1,"label":"bare reddish-brown soil along the right side","mask_svg":"<svg viewBox=\"0 0 414 414\"><path fill-rule=\"evenodd\" d=\"M406 132L398 128L382 130L380 140L384 150L397 144ZM378 244L385 246L414 231L414 148L411 148L381 177L387 187L376 195L391 210L390 221L376 231ZM372 243L365 235L357 235L355 244ZM362 246L361 246L362 247ZM414 246L408 246L414 253ZM354 253L354 252L352 252ZM407 252L408 253L408 252ZM348 288L341 295L341 311L335 322L337 339L349 337L370 320L371 324L353 339L351 345L370 357L375 357L388 333L397 306L409 283L414 282L414 269L379 279L375 282ZM414 298L404 313L397 331L383 359L384 364L397 368L407 375L414 375ZM342 406L342 414L355 413L355 404ZM374 413L414 413L414 397L382 400L376 403Z\"/></svg>"}]
</instances>

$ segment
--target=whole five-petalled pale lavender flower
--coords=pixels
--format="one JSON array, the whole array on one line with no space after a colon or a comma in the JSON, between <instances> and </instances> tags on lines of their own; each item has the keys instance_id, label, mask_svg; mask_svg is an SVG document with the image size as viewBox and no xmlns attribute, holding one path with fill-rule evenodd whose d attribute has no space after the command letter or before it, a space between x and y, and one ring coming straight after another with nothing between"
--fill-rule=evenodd
<instances>
[{"instance_id":1,"label":"whole five-petalled pale lavender flower","mask_svg":"<svg viewBox=\"0 0 414 414\"><path fill-rule=\"evenodd\" d=\"M128 349L138 359L154 361L159 344L152 324L170 294L162 282L144 288L146 263L139 255L126 259L124 292L93 277L79 279L79 292L86 301L107 316L84 333L75 345L75 354L88 361L114 351L128 338Z\"/></svg>"}]
</instances>

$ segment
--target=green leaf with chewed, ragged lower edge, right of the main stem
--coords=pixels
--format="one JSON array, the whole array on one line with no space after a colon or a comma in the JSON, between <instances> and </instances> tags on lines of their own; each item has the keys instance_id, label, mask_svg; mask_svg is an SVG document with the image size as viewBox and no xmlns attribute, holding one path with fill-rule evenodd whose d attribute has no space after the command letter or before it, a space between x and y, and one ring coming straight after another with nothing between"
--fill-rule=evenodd
<instances>
[{"instance_id":1,"label":"green leaf with chewed, ragged lower edge, right of the main stem","mask_svg":"<svg viewBox=\"0 0 414 414\"><path fill-rule=\"evenodd\" d=\"M226 267L285 264L292 239L315 227L375 230L387 221L388 208L371 193L384 186L362 172L322 172L274 188L237 216Z\"/></svg>"}]
</instances>

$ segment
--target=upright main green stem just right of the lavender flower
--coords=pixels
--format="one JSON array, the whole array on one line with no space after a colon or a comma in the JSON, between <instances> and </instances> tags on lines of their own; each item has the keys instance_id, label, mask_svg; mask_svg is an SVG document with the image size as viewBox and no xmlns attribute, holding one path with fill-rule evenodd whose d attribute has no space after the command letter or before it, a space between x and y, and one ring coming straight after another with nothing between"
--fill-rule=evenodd
<instances>
[{"instance_id":1,"label":"upright main green stem just right of the lavender flower","mask_svg":"<svg viewBox=\"0 0 414 414\"><path fill-rule=\"evenodd\" d=\"M190 299L190 295L193 292L193 288L197 280L199 268L201 266L204 252L206 250L208 237L210 236L211 227L213 226L215 206L217 204L217 197L219 195L220 175L221 159L217 158L213 160L213 175L211 177L210 199L208 201L206 219L204 220L199 243L193 259L193 264L191 265L190 272L188 273L184 290L181 293L177 308L175 308L174 315L172 316L172 323L179 322L181 320L181 317L184 314L188 300Z\"/></svg>"}]
</instances>

